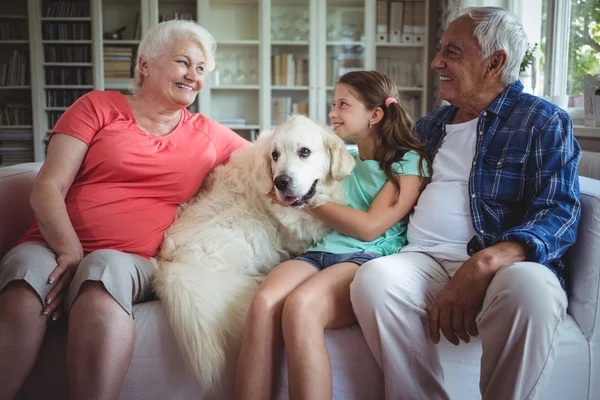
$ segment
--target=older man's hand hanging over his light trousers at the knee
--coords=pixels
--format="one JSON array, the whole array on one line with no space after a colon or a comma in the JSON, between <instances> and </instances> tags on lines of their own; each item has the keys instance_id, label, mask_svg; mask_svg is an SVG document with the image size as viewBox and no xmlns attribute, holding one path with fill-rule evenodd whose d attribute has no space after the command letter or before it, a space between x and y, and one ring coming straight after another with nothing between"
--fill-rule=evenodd
<instances>
[{"instance_id":1,"label":"older man's hand hanging over his light trousers at the knee","mask_svg":"<svg viewBox=\"0 0 600 400\"><path fill-rule=\"evenodd\" d=\"M434 343L440 341L440 329L456 346L460 340L469 343L471 336L479 334L475 319L495 273L486 267L475 255L440 290L429 314L429 333Z\"/></svg>"}]
</instances>

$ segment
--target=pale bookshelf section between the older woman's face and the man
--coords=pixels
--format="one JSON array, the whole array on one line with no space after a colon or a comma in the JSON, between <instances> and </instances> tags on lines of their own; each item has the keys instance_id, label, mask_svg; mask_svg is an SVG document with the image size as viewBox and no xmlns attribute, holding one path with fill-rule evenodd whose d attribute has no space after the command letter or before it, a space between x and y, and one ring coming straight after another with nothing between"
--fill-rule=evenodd
<instances>
[{"instance_id":1,"label":"pale bookshelf section between the older woman's face and the man","mask_svg":"<svg viewBox=\"0 0 600 400\"><path fill-rule=\"evenodd\" d=\"M392 2L411 3L400 26L390 25ZM381 8L386 30L399 29L400 38L377 40ZM334 83L353 69L387 73L411 114L426 112L429 0L204 0L198 9L205 10L199 22L218 45L200 111L215 119L232 116L246 137L256 132L242 132L240 123L268 130L294 112L328 122ZM237 78L255 76L255 63L258 86L253 79L233 82L235 71L242 71Z\"/></svg>"}]
</instances>

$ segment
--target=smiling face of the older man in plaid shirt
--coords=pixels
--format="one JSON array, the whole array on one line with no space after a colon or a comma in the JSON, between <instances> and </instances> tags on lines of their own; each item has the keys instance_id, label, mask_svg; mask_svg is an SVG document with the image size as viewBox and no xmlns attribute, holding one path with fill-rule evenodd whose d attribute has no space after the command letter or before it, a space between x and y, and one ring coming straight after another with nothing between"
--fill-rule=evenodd
<instances>
[{"instance_id":1,"label":"smiling face of the older man in plaid shirt","mask_svg":"<svg viewBox=\"0 0 600 400\"><path fill-rule=\"evenodd\" d=\"M476 98L485 86L487 63L480 57L474 27L467 15L451 22L431 62L431 68L440 76L440 98L457 107Z\"/></svg>"}]
</instances>

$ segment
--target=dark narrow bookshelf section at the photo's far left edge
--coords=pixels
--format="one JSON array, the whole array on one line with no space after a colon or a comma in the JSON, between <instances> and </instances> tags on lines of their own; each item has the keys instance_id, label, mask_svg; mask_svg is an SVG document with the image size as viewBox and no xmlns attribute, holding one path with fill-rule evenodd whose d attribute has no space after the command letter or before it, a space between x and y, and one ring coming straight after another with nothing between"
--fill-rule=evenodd
<instances>
[{"instance_id":1,"label":"dark narrow bookshelf section at the photo's far left edge","mask_svg":"<svg viewBox=\"0 0 600 400\"><path fill-rule=\"evenodd\" d=\"M0 166L34 160L27 15L27 4L0 5Z\"/></svg>"}]
</instances>

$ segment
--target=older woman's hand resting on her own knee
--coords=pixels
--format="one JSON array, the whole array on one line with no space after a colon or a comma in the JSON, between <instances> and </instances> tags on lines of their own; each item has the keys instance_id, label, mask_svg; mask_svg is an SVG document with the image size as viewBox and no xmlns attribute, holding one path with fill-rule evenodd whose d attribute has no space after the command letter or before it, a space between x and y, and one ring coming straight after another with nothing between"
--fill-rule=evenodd
<instances>
[{"instance_id":1,"label":"older woman's hand resting on her own knee","mask_svg":"<svg viewBox=\"0 0 600 400\"><path fill-rule=\"evenodd\" d=\"M48 296L46 296L44 315L51 318L53 321L58 320L63 313L63 300L65 292L69 288L71 280L77 271L79 263L83 260L83 250L81 247L73 251L59 253L56 257L58 265L50 274L48 283L56 282Z\"/></svg>"}]
</instances>

